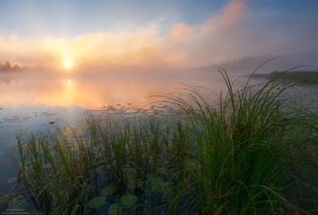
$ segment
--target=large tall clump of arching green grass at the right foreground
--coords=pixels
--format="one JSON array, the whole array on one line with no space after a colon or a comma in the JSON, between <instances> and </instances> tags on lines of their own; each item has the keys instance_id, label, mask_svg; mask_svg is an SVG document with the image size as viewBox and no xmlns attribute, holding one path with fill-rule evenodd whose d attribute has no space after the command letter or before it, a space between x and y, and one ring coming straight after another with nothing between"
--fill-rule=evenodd
<instances>
[{"instance_id":1,"label":"large tall clump of arching green grass at the right foreground","mask_svg":"<svg viewBox=\"0 0 318 215\"><path fill-rule=\"evenodd\" d=\"M165 97L187 114L195 144L192 158L184 161L189 177L171 201L172 211L186 197L189 210L201 214L303 213L285 194L301 187L306 179L300 168L316 161L310 133L317 132L317 117L284 106L282 94L291 83L271 81L256 90L246 83L234 91L222 75L228 93L218 109L194 88ZM311 150L303 151L307 147Z\"/></svg>"}]
</instances>

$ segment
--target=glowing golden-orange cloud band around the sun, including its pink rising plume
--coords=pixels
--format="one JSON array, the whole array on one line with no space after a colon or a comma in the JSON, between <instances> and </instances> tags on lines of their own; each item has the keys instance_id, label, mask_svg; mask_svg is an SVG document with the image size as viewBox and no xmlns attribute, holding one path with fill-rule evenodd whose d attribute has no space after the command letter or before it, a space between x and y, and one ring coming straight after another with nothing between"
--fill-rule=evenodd
<instances>
[{"instance_id":1,"label":"glowing golden-orange cloud band around the sun, including its pink rising plume","mask_svg":"<svg viewBox=\"0 0 318 215\"><path fill-rule=\"evenodd\" d=\"M15 35L0 37L0 60L31 69L55 71L64 69L65 62L72 62L73 70L188 68L218 63L228 55L234 55L227 49L226 37L242 21L243 11L243 1L232 0L220 15L208 18L204 24L174 24L164 36L154 28L146 28L116 34L84 34L75 38L22 40Z\"/></svg>"}]
</instances>

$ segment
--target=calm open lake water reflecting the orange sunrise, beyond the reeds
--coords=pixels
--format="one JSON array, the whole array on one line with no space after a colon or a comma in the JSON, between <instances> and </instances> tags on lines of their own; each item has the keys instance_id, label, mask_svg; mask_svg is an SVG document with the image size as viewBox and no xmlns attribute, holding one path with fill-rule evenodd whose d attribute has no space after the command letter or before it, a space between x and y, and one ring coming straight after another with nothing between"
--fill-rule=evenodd
<instances>
[{"instance_id":1,"label":"calm open lake water reflecting the orange sunrise, beyond the reeds","mask_svg":"<svg viewBox=\"0 0 318 215\"><path fill-rule=\"evenodd\" d=\"M230 75L237 79L239 74ZM237 86L243 85L241 77ZM253 80L261 83L265 80ZM221 89L225 90L220 73L0 73L0 193L9 191L7 180L17 172L8 154L16 154L16 137L40 136L57 127L84 123L90 114L134 115L138 112L163 111L152 95L180 93L181 88L201 86L211 103L217 103ZM297 100L318 107L318 87L300 86ZM293 92L291 92L291 95ZM166 111L169 111L168 109ZM163 112L164 114L164 112ZM10 184L9 184L10 185Z\"/></svg>"}]
</instances>

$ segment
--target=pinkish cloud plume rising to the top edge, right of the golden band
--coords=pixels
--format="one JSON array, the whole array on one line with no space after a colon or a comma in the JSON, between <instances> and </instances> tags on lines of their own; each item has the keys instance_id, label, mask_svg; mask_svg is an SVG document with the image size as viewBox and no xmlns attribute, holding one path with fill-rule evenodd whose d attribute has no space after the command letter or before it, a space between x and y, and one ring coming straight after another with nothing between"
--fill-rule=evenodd
<instances>
[{"instance_id":1,"label":"pinkish cloud plume rising to the top edge, right of the golden band","mask_svg":"<svg viewBox=\"0 0 318 215\"><path fill-rule=\"evenodd\" d=\"M175 24L167 34L171 49L184 55L185 67L231 59L234 46L228 44L237 42L232 35L243 23L244 11L244 1L232 0L224 5L221 14L208 18L204 24Z\"/></svg>"}]
</instances>

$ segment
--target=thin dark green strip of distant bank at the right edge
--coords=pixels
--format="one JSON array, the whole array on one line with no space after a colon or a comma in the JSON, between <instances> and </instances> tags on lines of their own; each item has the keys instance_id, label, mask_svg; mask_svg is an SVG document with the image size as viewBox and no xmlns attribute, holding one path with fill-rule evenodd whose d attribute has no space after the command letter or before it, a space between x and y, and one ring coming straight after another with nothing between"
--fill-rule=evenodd
<instances>
[{"instance_id":1,"label":"thin dark green strip of distant bank at the right edge","mask_svg":"<svg viewBox=\"0 0 318 215\"><path fill-rule=\"evenodd\" d=\"M318 84L318 71L273 72L254 74L254 78L293 81L296 83Z\"/></svg>"}]
</instances>

